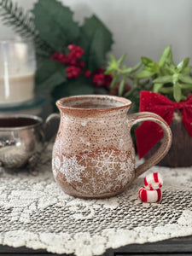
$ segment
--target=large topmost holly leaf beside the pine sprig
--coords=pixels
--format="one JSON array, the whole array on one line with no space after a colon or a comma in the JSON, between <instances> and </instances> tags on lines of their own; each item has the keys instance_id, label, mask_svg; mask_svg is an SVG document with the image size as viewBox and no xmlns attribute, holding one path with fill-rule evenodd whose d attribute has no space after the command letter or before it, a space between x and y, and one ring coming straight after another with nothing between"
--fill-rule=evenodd
<instances>
[{"instance_id":1,"label":"large topmost holly leaf beside the pine sprig","mask_svg":"<svg viewBox=\"0 0 192 256\"><path fill-rule=\"evenodd\" d=\"M79 37L78 23L73 12L56 0L39 0L32 9L39 37L52 49L60 51Z\"/></svg>"}]
</instances>

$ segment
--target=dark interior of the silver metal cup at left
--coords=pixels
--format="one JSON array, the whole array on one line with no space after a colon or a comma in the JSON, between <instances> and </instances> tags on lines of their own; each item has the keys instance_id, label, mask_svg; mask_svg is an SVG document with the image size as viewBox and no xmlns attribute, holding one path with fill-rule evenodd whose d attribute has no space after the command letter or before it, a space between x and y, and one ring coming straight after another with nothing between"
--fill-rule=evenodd
<instances>
[{"instance_id":1,"label":"dark interior of the silver metal cup at left","mask_svg":"<svg viewBox=\"0 0 192 256\"><path fill-rule=\"evenodd\" d=\"M0 117L0 128L17 128L37 125L40 119L30 117Z\"/></svg>"}]
</instances>

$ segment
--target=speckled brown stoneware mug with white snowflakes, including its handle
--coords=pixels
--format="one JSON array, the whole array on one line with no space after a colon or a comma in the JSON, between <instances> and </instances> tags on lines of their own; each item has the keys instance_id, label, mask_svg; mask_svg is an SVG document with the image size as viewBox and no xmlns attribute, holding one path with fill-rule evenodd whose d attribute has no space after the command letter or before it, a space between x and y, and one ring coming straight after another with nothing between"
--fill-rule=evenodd
<instances>
[{"instance_id":1,"label":"speckled brown stoneware mug with white snowflakes, including its handle","mask_svg":"<svg viewBox=\"0 0 192 256\"><path fill-rule=\"evenodd\" d=\"M53 148L55 181L68 195L104 198L118 195L148 168L160 161L172 143L172 132L154 113L127 114L131 101L118 96L70 96L56 102L61 113ZM154 121L163 131L163 143L135 168L131 127Z\"/></svg>"}]
</instances>

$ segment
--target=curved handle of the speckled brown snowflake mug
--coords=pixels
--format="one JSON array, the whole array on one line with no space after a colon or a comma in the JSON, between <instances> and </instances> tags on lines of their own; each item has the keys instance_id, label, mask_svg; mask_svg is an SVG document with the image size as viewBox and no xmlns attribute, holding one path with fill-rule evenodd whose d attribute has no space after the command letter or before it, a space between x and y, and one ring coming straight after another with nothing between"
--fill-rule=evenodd
<instances>
[{"instance_id":1,"label":"curved handle of the speckled brown snowflake mug","mask_svg":"<svg viewBox=\"0 0 192 256\"><path fill-rule=\"evenodd\" d=\"M138 166L135 170L135 178L146 172L150 167L155 166L168 152L172 145L172 131L167 125L166 121L162 119L158 114L152 112L140 112L128 114L129 122L131 122L131 127L139 122L143 121L153 121L160 125L164 131L164 137L160 148L148 158L142 165ZM130 128L131 129L131 128Z\"/></svg>"}]
</instances>

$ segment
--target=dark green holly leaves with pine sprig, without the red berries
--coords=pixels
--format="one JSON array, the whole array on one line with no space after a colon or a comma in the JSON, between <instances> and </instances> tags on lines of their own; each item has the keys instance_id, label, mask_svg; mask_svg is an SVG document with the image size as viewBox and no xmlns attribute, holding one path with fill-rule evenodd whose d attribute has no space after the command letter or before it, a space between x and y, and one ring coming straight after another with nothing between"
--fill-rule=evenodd
<instances>
[{"instance_id":1,"label":"dark green holly leaves with pine sprig, without the red berries","mask_svg":"<svg viewBox=\"0 0 192 256\"><path fill-rule=\"evenodd\" d=\"M61 96L66 95L67 84L75 88L76 79L84 81L79 84L81 94L94 92L91 79L70 79L68 74L74 71L63 63L51 59L55 52L67 55L67 47L71 44L84 49L81 61L84 69L95 73L106 63L107 52L111 49L113 38L108 28L96 15L84 19L83 25L73 20L73 11L57 0L38 0L30 12L25 12L11 0L0 0L3 22L12 26L21 37L30 38L35 44L38 69L36 88L57 90ZM71 68L71 69L70 69ZM70 70L69 70L70 69ZM76 68L77 69L77 68ZM77 71L77 70L76 70ZM74 85L74 86L73 86ZM68 90L67 90L68 91ZM54 91L55 93L55 91Z\"/></svg>"}]
</instances>

